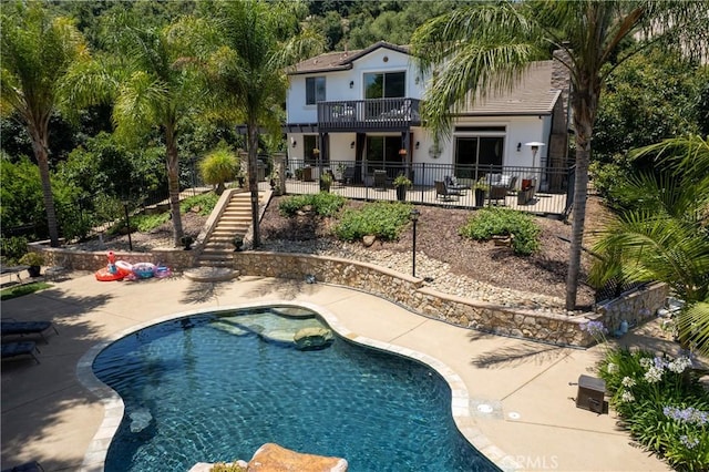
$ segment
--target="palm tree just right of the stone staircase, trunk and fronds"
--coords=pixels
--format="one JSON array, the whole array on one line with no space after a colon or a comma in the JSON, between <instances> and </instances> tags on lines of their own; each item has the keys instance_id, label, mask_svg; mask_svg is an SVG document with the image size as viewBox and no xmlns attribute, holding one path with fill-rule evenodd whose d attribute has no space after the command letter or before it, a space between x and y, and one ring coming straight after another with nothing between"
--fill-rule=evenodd
<instances>
[{"instance_id":1,"label":"palm tree just right of the stone staircase, trunk and fronds","mask_svg":"<svg viewBox=\"0 0 709 472\"><path fill-rule=\"evenodd\" d=\"M259 126L280 135L279 117L288 90L285 68L320 52L323 39L298 31L300 3L219 1L209 12L214 48L204 58L212 110L246 124L247 173L251 193L254 247L260 245L257 155ZM294 35L295 34L295 35Z\"/></svg>"}]
</instances>

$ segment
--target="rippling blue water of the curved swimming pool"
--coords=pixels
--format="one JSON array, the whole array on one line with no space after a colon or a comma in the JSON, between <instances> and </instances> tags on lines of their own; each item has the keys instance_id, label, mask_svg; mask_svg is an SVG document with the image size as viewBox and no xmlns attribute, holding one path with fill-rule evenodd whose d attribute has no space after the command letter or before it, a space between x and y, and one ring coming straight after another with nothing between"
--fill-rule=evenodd
<instances>
[{"instance_id":1,"label":"rippling blue water of the curved swimming pool","mask_svg":"<svg viewBox=\"0 0 709 472\"><path fill-rule=\"evenodd\" d=\"M93 366L125 403L106 472L248 461L266 442L345 458L350 471L499 470L455 428L436 372L338 337L296 349L292 334L311 326L323 325L271 307L183 318L112 343Z\"/></svg>"}]
</instances>

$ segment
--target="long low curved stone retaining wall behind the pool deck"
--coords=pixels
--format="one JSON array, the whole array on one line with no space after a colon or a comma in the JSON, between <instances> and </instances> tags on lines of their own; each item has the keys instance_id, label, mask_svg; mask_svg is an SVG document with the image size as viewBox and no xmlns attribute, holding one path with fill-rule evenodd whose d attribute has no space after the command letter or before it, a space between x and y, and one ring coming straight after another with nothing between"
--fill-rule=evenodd
<instances>
[{"instance_id":1,"label":"long low curved stone retaining wall behind the pool deck","mask_svg":"<svg viewBox=\"0 0 709 472\"><path fill-rule=\"evenodd\" d=\"M76 270L97 270L107 264L106 252L80 252L32 244L30 250L44 253L47 265L62 264ZM155 249L152 253L115 253L116 259L131 264L161 261L173 270L194 267L195 250ZM512 309L484 301L442 294L424 286L423 280L372 264L304 254L235 253L234 269L242 275L317 281L351 287L394 301L424 316L464 328L503 336L527 338L563 346L590 346L594 339L580 329L589 320L616 327L620 318L641 322L659 308L667 287L657 284L604 305L597 311L578 316ZM649 310L649 314L648 314Z\"/></svg>"}]
</instances>

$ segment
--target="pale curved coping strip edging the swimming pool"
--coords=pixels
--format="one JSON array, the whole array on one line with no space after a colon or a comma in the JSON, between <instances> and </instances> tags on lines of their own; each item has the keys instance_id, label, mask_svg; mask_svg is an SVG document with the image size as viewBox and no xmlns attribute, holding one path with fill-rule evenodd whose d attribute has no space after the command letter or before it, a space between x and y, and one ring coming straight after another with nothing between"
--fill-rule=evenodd
<instances>
[{"instance_id":1,"label":"pale curved coping strip edging the swimming pool","mask_svg":"<svg viewBox=\"0 0 709 472\"><path fill-rule=\"evenodd\" d=\"M506 454L503 450L493 444L476 427L467 387L463 382L462 378L441 360L413 349L360 336L345 327L335 314L319 305L294 300L267 300L229 305L218 308L199 308L157 317L150 321L141 322L123 329L111 336L110 339L91 347L76 363L76 377L84 388L99 398L104 408L104 417L99 430L86 449L80 472L102 472L104 470L109 447L111 445L113 435L117 431L124 414L124 404L121 397L112 388L99 380L99 378L93 373L93 362L101 351L121 338L161 322L215 311L260 308L267 306L289 306L312 310L323 318L328 326L339 336L349 341L371 347L373 349L397 353L425 363L435 370L449 384L449 388L451 389L451 413L453 415L453 421L467 442L470 442L482 455L502 471L518 471L523 469L512 455Z\"/></svg>"}]
</instances>

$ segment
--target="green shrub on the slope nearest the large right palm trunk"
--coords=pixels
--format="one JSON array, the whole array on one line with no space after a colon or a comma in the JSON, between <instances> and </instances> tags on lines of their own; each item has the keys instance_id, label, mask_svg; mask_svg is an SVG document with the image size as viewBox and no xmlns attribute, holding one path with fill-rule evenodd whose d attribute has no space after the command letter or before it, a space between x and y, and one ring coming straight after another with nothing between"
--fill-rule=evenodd
<instances>
[{"instance_id":1,"label":"green shrub on the slope nearest the large right palm trunk","mask_svg":"<svg viewBox=\"0 0 709 472\"><path fill-rule=\"evenodd\" d=\"M512 249L522 256L528 256L540 248L540 227L534 217L514 209L480 209L458 232L475 240L514 235Z\"/></svg>"}]
</instances>

